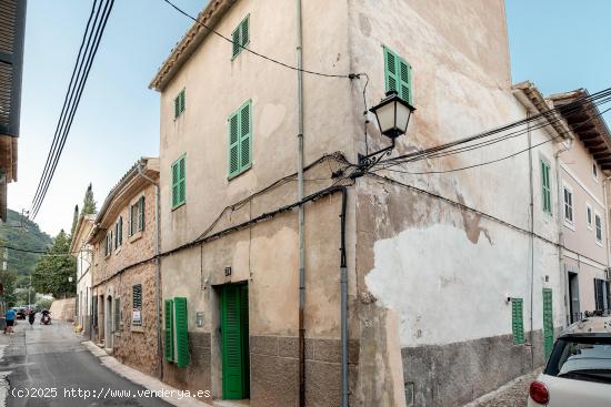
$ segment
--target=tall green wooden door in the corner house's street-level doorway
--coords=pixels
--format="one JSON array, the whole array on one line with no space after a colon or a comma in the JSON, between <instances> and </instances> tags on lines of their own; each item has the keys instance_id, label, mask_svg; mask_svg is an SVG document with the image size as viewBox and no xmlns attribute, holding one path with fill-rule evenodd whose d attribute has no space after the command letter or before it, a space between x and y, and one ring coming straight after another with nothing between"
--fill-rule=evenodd
<instances>
[{"instance_id":1,"label":"tall green wooden door in the corner house's street-level doorway","mask_svg":"<svg viewBox=\"0 0 611 407\"><path fill-rule=\"evenodd\" d=\"M228 285L221 293L223 398L250 396L248 347L248 286Z\"/></svg>"}]
</instances>

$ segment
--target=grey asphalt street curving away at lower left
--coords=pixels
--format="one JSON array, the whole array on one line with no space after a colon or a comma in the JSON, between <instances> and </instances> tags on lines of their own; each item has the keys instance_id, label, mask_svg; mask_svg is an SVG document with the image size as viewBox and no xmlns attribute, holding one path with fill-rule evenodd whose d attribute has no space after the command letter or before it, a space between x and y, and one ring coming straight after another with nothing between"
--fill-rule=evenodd
<instances>
[{"instance_id":1,"label":"grey asphalt street curving away at lower left","mask_svg":"<svg viewBox=\"0 0 611 407\"><path fill-rule=\"evenodd\" d=\"M81 340L71 324L53 320L46 326L39 324L39 318L33 328L19 320L10 338L0 334L0 387L2 376L10 385L7 405L170 406L159 398L139 395L146 391L143 387L101 365Z\"/></svg>"}]
</instances>

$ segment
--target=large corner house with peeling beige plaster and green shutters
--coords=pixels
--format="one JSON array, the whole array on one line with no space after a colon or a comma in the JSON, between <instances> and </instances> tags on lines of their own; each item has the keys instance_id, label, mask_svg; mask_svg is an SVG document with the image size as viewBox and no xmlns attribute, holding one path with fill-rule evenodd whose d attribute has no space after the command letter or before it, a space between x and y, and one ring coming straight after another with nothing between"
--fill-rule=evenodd
<instances>
[{"instance_id":1,"label":"large corner house with peeling beige plaster and green shutters","mask_svg":"<svg viewBox=\"0 0 611 407\"><path fill-rule=\"evenodd\" d=\"M150 84L163 380L252 407L461 406L542 365L567 323L555 174L577 136L512 85L503 1L299 3L210 1ZM303 50L307 71L248 49ZM363 95L388 91L418 109L391 156L494 142L359 174L389 144Z\"/></svg>"}]
</instances>

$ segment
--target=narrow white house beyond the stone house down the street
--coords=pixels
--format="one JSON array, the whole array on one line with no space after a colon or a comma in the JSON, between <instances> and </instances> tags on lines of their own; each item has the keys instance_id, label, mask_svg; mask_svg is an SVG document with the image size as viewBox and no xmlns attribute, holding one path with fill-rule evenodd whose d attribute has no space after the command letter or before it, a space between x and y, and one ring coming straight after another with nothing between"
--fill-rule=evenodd
<instances>
[{"instance_id":1,"label":"narrow white house beyond the stone house down the street","mask_svg":"<svg viewBox=\"0 0 611 407\"><path fill-rule=\"evenodd\" d=\"M91 275L93 247L88 243L96 223L96 215L82 214L79 216L70 254L77 258L77 324L82 327L82 333L91 335Z\"/></svg>"}]
</instances>

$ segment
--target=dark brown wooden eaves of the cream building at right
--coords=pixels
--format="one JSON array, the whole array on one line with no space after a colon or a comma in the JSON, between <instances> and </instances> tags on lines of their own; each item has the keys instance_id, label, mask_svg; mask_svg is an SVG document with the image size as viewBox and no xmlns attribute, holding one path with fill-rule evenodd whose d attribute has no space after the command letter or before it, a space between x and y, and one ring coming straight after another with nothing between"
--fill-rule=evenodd
<instances>
[{"instance_id":1,"label":"dark brown wooden eaves of the cream building at right","mask_svg":"<svg viewBox=\"0 0 611 407\"><path fill-rule=\"evenodd\" d=\"M567 120L572 132L585 145L603 171L611 170L611 133L598 106L588 96L587 89L557 93L549 96ZM582 100L581 109L563 112L562 106Z\"/></svg>"}]
</instances>

